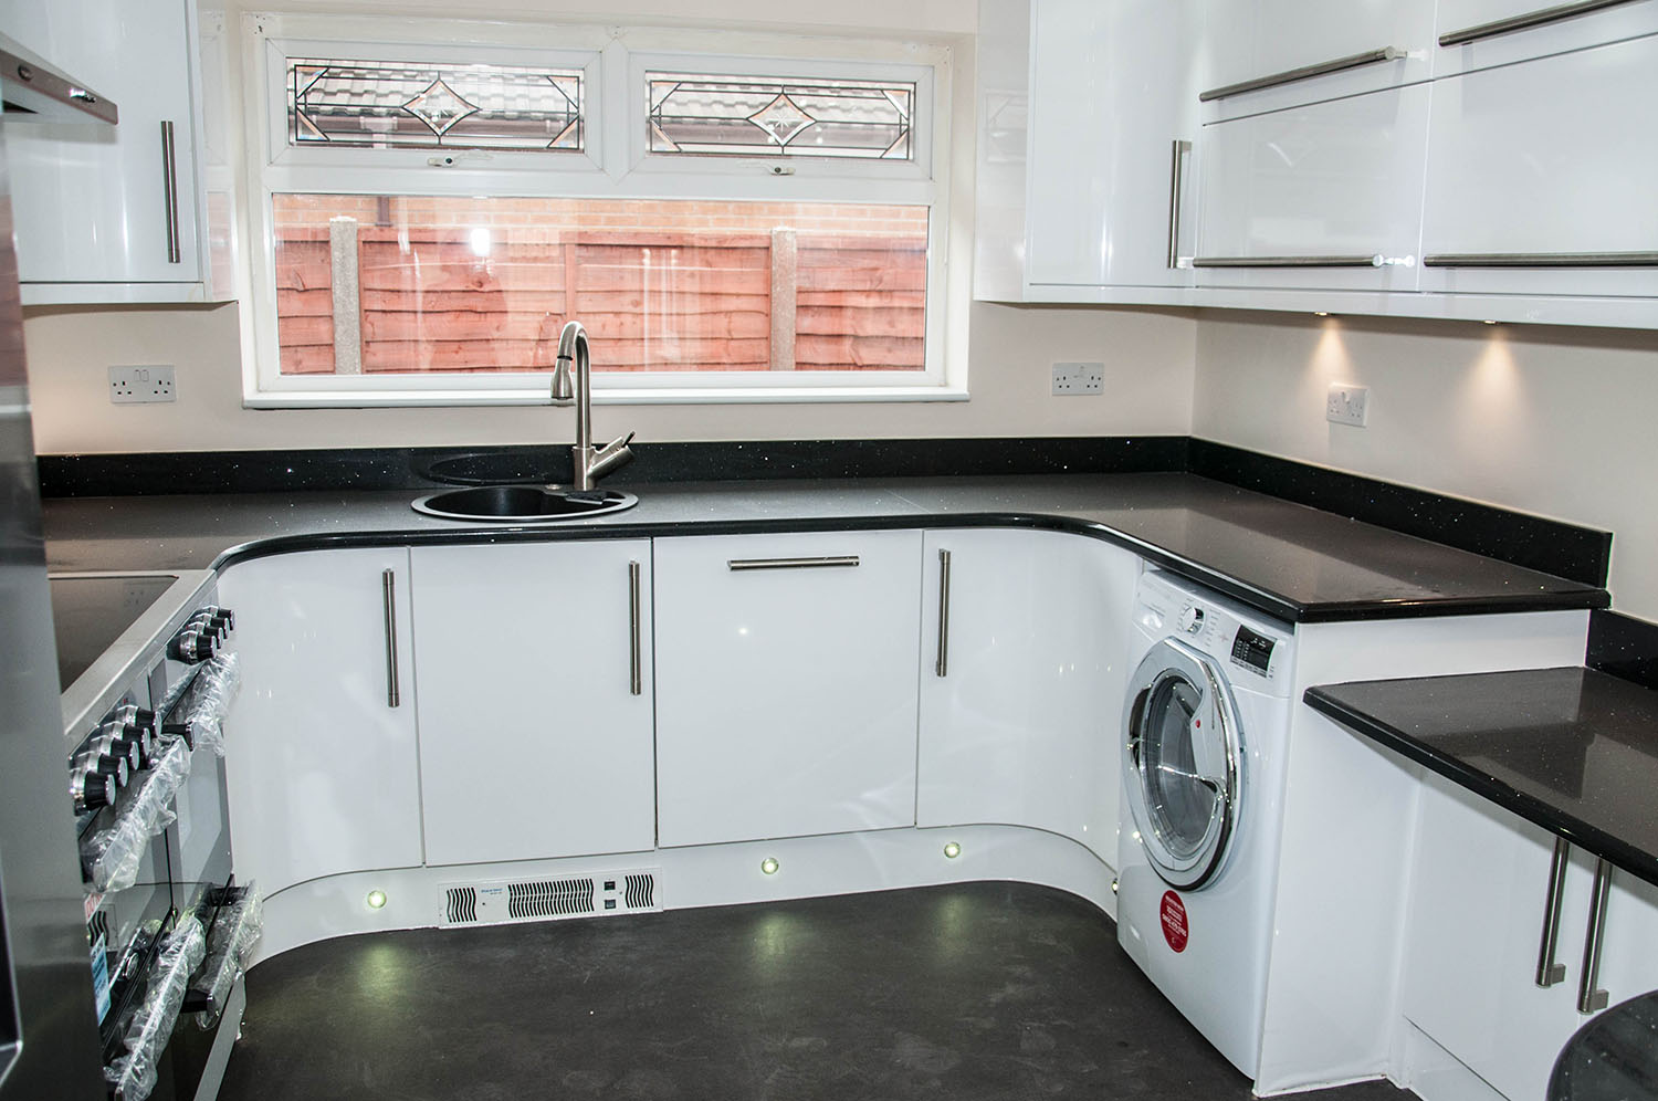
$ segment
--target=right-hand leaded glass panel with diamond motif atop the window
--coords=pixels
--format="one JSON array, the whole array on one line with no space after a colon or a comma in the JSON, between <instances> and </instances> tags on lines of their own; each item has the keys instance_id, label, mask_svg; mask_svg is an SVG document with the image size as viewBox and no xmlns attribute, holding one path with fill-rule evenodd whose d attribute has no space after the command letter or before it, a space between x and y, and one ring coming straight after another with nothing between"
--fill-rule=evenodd
<instances>
[{"instance_id":1,"label":"right-hand leaded glass panel with diamond motif atop the window","mask_svg":"<svg viewBox=\"0 0 1658 1101\"><path fill-rule=\"evenodd\" d=\"M915 85L647 73L657 154L914 159Z\"/></svg>"}]
</instances>

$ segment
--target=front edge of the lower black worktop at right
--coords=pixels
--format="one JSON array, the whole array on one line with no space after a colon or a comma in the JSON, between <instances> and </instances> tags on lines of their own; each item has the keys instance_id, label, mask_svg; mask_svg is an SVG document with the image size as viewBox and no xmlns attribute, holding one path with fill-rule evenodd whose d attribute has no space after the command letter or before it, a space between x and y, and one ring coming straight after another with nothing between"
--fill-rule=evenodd
<instances>
[{"instance_id":1,"label":"front edge of the lower black worktop at right","mask_svg":"<svg viewBox=\"0 0 1658 1101\"><path fill-rule=\"evenodd\" d=\"M1330 688L1335 686L1336 685L1330 685ZM1491 776L1489 773L1484 773L1459 758L1439 753L1433 746L1423 745L1416 738L1411 738L1396 726L1381 721L1374 715L1358 711L1340 703L1325 691L1325 685L1308 688L1302 693L1302 701L1320 715L1341 723L1353 733L1370 738L1376 745L1386 746L1399 756L1421 764L1428 771L1437 773L1451 783L1472 791L1482 799L1489 799L1496 806L1524 817L1527 822L1565 837L1580 849L1592 852L1593 856L1605 857L1631 875L1638 875L1640 879L1658 885L1658 856L1646 852L1645 849L1640 849L1615 834L1608 834L1603 829L1590 826L1588 822L1567 814L1560 808L1544 803L1535 796L1515 791L1496 776Z\"/></svg>"}]
</instances>

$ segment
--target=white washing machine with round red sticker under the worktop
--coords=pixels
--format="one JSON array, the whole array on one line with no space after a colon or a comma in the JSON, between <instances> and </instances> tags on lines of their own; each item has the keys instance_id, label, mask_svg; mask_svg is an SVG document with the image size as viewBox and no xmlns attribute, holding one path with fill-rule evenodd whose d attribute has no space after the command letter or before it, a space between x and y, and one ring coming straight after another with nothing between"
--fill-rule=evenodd
<instances>
[{"instance_id":1,"label":"white washing machine with round red sticker under the worktop","mask_svg":"<svg viewBox=\"0 0 1658 1101\"><path fill-rule=\"evenodd\" d=\"M1141 577L1122 715L1117 940L1240 1071L1260 1065L1295 633Z\"/></svg>"}]
</instances>

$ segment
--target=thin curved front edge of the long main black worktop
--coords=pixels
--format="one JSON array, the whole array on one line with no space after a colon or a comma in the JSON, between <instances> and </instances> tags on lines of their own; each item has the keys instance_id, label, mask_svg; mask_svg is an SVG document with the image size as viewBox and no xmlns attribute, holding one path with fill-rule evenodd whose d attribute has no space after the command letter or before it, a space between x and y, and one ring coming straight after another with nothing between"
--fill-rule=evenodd
<instances>
[{"instance_id":1,"label":"thin curved front edge of the long main black worktop","mask_svg":"<svg viewBox=\"0 0 1658 1101\"><path fill-rule=\"evenodd\" d=\"M1431 600L1355 600L1307 605L1288 600L1267 589L1257 589L1215 569L1192 562L1162 547L1134 539L1114 527L1064 516L1028 512L953 512L928 516L851 516L834 519L776 517L746 521L695 521L693 524L605 524L602 527L501 527L478 524L453 531L403 529L378 532L337 532L275 536L230 547L212 562L212 569L225 569L235 562L295 550L332 550L343 547L385 546L434 546L478 542L574 542L594 539L652 539L662 536L749 536L783 532L824 531L890 531L890 529L950 529L950 527L1030 527L1058 531L1101 539L1141 555L1147 562L1180 577L1195 580L1215 592L1229 595L1267 615L1288 623L1335 623L1353 620L1426 618L1436 615L1489 615L1502 612L1559 612L1607 607L1610 595L1603 589L1572 592L1515 592L1502 597L1434 597Z\"/></svg>"}]
</instances>

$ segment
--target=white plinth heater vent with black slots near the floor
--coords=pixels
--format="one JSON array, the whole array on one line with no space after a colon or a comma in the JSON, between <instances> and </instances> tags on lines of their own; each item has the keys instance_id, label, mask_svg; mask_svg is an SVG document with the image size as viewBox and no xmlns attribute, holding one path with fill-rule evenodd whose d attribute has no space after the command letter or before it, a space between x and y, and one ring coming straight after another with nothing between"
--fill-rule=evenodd
<instances>
[{"instance_id":1,"label":"white plinth heater vent with black slots near the floor","mask_svg":"<svg viewBox=\"0 0 1658 1101\"><path fill-rule=\"evenodd\" d=\"M574 879L443 884L438 889L439 920L444 925L501 925L660 910L660 869L633 869Z\"/></svg>"}]
</instances>

